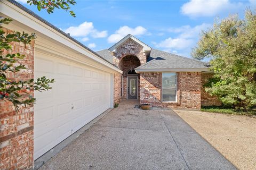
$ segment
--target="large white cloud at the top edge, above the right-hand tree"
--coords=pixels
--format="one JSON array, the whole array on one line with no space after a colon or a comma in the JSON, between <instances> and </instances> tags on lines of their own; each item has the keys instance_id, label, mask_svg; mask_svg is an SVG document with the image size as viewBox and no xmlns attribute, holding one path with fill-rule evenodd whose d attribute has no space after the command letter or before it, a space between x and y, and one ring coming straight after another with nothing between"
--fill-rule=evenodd
<instances>
[{"instance_id":1,"label":"large white cloud at the top edge, above the right-hand tree","mask_svg":"<svg viewBox=\"0 0 256 170\"><path fill-rule=\"evenodd\" d=\"M230 2L229 0L190 0L181 6L181 12L185 15L214 16L222 11L231 11L241 8L241 2Z\"/></svg>"}]
</instances>

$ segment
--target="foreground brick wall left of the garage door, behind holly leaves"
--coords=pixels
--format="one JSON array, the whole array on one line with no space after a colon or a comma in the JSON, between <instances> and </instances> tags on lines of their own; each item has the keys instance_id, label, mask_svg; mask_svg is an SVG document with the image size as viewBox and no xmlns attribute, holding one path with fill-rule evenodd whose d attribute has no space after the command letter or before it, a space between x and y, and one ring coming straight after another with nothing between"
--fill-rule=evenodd
<instances>
[{"instance_id":1,"label":"foreground brick wall left of the garage door, behind holly leaves","mask_svg":"<svg viewBox=\"0 0 256 170\"><path fill-rule=\"evenodd\" d=\"M4 29L5 32L9 31ZM27 70L9 73L10 80L29 80L34 78L34 42L26 47L22 43L13 43L12 52L25 54L19 63ZM7 52L5 52L6 54ZM30 92L33 95L33 92ZM26 97L26 95L25 95ZM34 108L21 107L15 112L9 101L0 101L0 169L28 169L33 167L34 159Z\"/></svg>"}]
</instances>

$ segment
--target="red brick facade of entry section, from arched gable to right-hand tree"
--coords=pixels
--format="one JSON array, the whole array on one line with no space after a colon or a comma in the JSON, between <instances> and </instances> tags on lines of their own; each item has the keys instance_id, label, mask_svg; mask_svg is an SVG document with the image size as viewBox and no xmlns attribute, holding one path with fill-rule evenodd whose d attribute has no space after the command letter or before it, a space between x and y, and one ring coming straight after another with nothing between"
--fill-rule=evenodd
<instances>
[{"instance_id":1,"label":"red brick facade of entry section, from arched gable to right-hand tree","mask_svg":"<svg viewBox=\"0 0 256 170\"><path fill-rule=\"evenodd\" d=\"M145 64L147 57L143 47L128 39L117 47L113 57L114 63L123 71L121 76L115 75L114 101L119 103L127 98L127 72ZM202 76L202 80L201 80ZM202 105L219 105L216 97L206 94L203 84L209 78L209 74L201 72L177 73L177 102L162 102L162 73L138 74L138 99L140 103L149 103L157 107L193 108L199 109ZM123 83L121 83L123 81ZM122 96L121 96L121 89Z\"/></svg>"}]
</instances>

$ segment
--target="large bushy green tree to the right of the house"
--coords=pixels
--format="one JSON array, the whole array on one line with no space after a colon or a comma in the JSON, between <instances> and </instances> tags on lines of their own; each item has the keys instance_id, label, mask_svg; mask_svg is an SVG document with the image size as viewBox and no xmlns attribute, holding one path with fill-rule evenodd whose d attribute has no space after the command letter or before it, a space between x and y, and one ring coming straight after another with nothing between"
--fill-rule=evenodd
<instances>
[{"instance_id":1,"label":"large bushy green tree to the right of the house","mask_svg":"<svg viewBox=\"0 0 256 170\"><path fill-rule=\"evenodd\" d=\"M211 58L214 76L205 84L206 92L224 105L247 111L256 105L256 15L245 11L245 19L230 15L202 32L192 56Z\"/></svg>"}]
</instances>

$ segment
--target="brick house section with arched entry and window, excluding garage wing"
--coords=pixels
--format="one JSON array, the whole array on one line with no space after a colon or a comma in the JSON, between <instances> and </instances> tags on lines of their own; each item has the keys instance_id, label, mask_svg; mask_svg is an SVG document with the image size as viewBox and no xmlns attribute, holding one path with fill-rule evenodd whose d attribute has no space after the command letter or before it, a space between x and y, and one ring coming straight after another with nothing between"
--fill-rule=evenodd
<instances>
[{"instance_id":1,"label":"brick house section with arched entry and window, excluding garage wing","mask_svg":"<svg viewBox=\"0 0 256 170\"><path fill-rule=\"evenodd\" d=\"M123 71L114 75L115 103L138 99L140 104L190 109L218 104L204 91L201 81L212 75L204 62L153 49L132 35L97 53Z\"/></svg>"}]
</instances>

